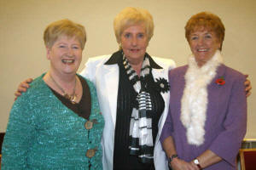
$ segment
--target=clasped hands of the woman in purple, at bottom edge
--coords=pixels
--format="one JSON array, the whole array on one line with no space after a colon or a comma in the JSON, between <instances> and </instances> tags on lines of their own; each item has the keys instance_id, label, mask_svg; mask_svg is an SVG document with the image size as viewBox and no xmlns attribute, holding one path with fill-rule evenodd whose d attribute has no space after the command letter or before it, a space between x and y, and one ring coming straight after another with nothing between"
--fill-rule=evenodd
<instances>
[{"instance_id":1,"label":"clasped hands of the woman in purple, at bottom edge","mask_svg":"<svg viewBox=\"0 0 256 170\"><path fill-rule=\"evenodd\" d=\"M174 158L171 161L170 166L172 167L172 170L199 170L193 161L187 162L179 158Z\"/></svg>"}]
</instances>

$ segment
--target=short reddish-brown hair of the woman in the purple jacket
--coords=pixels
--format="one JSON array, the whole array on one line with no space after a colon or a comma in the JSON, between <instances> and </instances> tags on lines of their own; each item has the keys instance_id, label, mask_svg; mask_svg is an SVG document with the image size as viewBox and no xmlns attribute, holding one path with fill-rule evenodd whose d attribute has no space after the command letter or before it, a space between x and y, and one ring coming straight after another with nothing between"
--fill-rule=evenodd
<instances>
[{"instance_id":1,"label":"short reddish-brown hair of the woman in the purple jacket","mask_svg":"<svg viewBox=\"0 0 256 170\"><path fill-rule=\"evenodd\" d=\"M225 35L225 27L216 14L201 12L193 15L185 26L185 36L187 41L189 42L189 36L193 31L201 28L207 29L207 31L215 32L216 36L218 37L218 41L222 46Z\"/></svg>"}]
</instances>

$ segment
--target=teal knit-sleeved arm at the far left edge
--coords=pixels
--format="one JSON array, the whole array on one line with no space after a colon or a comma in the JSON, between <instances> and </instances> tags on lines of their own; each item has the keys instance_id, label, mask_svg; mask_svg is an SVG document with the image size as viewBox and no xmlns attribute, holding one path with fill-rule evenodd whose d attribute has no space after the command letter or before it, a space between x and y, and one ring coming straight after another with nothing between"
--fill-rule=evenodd
<instances>
[{"instance_id":1,"label":"teal knit-sleeved arm at the far left edge","mask_svg":"<svg viewBox=\"0 0 256 170\"><path fill-rule=\"evenodd\" d=\"M34 126L26 94L15 101L3 141L2 168L27 169L27 151L31 147Z\"/></svg>"}]
</instances>

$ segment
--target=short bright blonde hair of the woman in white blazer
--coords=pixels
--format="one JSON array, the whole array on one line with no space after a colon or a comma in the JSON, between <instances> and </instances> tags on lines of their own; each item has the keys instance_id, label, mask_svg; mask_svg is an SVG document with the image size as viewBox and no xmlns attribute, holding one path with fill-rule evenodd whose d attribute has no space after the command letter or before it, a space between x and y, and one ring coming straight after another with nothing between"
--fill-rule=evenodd
<instances>
[{"instance_id":1,"label":"short bright blonde hair of the woman in white blazer","mask_svg":"<svg viewBox=\"0 0 256 170\"><path fill-rule=\"evenodd\" d=\"M143 8L124 8L113 20L113 29L117 42L121 42L121 34L129 26L143 24L146 27L148 42L153 36L154 22L148 10Z\"/></svg>"}]
</instances>

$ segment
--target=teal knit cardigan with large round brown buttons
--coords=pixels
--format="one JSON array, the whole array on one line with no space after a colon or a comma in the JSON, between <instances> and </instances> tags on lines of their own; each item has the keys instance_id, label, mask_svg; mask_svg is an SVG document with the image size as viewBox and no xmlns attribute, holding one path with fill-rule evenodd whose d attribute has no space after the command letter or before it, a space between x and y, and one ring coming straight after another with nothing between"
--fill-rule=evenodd
<instances>
[{"instance_id":1,"label":"teal knit cardigan with large round brown buttons","mask_svg":"<svg viewBox=\"0 0 256 170\"><path fill-rule=\"evenodd\" d=\"M2 170L5 169L102 169L102 128L96 89L90 88L90 130L81 116L63 105L43 80L31 83L12 107L3 141ZM87 150L95 156L86 156Z\"/></svg>"}]
</instances>

